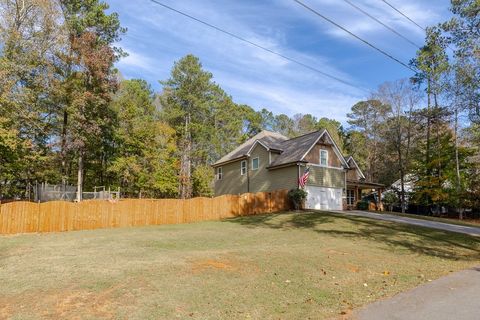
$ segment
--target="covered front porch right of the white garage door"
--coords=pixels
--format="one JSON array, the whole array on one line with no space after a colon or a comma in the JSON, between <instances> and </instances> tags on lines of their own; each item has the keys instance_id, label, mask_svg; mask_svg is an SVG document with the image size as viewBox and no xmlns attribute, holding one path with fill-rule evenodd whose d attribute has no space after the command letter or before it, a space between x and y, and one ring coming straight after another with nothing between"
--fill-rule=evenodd
<instances>
[{"instance_id":1,"label":"covered front porch right of the white garage door","mask_svg":"<svg viewBox=\"0 0 480 320\"><path fill-rule=\"evenodd\" d=\"M358 202L368 192L371 195L371 199L368 199L368 210L383 211L382 192L384 189L385 186L380 183L347 180L347 197L343 209L357 209Z\"/></svg>"}]
</instances>

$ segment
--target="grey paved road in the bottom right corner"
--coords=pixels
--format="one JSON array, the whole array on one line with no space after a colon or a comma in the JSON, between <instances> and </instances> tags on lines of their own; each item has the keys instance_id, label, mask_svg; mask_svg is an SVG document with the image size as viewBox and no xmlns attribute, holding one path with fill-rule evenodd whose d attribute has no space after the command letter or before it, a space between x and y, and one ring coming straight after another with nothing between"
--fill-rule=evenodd
<instances>
[{"instance_id":1,"label":"grey paved road in the bottom right corner","mask_svg":"<svg viewBox=\"0 0 480 320\"><path fill-rule=\"evenodd\" d=\"M374 302L357 320L478 320L480 267L452 273L393 298Z\"/></svg>"}]
</instances>

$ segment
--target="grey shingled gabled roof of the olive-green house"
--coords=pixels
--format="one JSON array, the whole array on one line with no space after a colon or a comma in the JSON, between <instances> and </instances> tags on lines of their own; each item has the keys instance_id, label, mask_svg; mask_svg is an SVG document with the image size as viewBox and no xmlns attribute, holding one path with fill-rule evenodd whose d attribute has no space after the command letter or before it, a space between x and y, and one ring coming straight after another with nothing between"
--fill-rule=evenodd
<instances>
[{"instance_id":1,"label":"grey shingled gabled roof of the olive-green house","mask_svg":"<svg viewBox=\"0 0 480 320\"><path fill-rule=\"evenodd\" d=\"M257 144L262 145L268 151L273 150L280 153L269 165L269 168L296 162L306 162L304 160L305 156L324 135L326 135L333 144L335 153L340 158L340 161L346 168L348 168L347 161L340 153L335 141L333 141L332 137L325 129L310 132L292 139L288 139L287 137L276 132L264 130L245 141L232 152L222 157L220 160L215 162L213 166L218 166L226 162L248 157Z\"/></svg>"}]
</instances>

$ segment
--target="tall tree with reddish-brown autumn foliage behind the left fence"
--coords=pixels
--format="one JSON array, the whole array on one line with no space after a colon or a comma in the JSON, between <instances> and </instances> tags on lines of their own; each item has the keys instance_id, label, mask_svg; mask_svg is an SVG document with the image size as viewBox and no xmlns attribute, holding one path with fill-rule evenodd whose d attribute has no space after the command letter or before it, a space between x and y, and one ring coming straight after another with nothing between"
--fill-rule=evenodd
<instances>
[{"instance_id":1,"label":"tall tree with reddish-brown autumn foliage behind the left fence","mask_svg":"<svg viewBox=\"0 0 480 320\"><path fill-rule=\"evenodd\" d=\"M108 110L116 89L113 63L122 55L113 47L125 31L116 13L99 0L63 0L66 42L57 56L59 118L61 118L62 175L65 182L67 153L76 154L77 200L81 200L84 162L90 150L102 146L98 137L109 130ZM68 144L68 145L67 145Z\"/></svg>"}]
</instances>

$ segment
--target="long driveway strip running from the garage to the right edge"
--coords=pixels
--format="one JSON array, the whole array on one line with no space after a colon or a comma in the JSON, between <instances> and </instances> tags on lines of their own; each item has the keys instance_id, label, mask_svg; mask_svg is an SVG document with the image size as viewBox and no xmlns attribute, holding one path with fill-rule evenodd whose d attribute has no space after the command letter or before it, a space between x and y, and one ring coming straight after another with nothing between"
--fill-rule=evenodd
<instances>
[{"instance_id":1,"label":"long driveway strip running from the garage to the right edge","mask_svg":"<svg viewBox=\"0 0 480 320\"><path fill-rule=\"evenodd\" d=\"M359 210L335 211L335 212L342 213L342 214L349 214L349 215L353 215L353 216L361 216L361 217L366 217L366 218L378 219L378 220L386 220L386 221L393 221L393 222L399 222L399 223L408 223L408 224L413 224L413 225L416 225L416 226L422 226L422 227L427 227L427 228L441 229L441 230L447 230L447 231L452 231L452 232L465 233L465 234L469 234L469 235L472 235L472 236L480 236L480 227L467 227L467 226L460 226L460 225L457 225L457 224L450 224L450 223L429 221L429 220L421 220L421 219L415 219L415 218L407 218L407 217L400 217L400 216L395 216L395 215L391 215L391 214L379 214L379 213L359 211ZM480 277L480 275L477 275L477 276ZM479 292L479 294L480 294L480 292ZM480 319L480 315L479 315L478 319Z\"/></svg>"}]
</instances>

